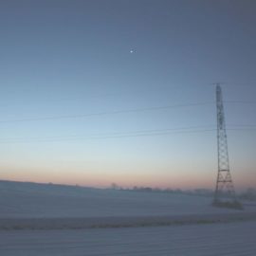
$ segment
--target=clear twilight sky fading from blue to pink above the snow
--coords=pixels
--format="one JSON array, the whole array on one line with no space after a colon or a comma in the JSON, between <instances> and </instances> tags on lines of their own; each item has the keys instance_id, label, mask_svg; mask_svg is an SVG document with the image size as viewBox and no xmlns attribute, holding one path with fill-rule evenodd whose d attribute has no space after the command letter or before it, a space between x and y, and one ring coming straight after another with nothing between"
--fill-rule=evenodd
<instances>
[{"instance_id":1,"label":"clear twilight sky fading from blue to pink above the snow","mask_svg":"<svg viewBox=\"0 0 256 256\"><path fill-rule=\"evenodd\" d=\"M256 187L256 2L0 1L0 179Z\"/></svg>"}]
</instances>

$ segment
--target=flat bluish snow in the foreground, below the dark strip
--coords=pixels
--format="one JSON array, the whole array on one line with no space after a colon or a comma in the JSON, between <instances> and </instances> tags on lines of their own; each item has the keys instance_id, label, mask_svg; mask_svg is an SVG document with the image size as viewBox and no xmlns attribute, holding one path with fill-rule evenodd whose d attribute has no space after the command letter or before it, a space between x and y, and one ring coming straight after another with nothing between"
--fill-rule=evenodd
<instances>
[{"instance_id":1,"label":"flat bluish snow in the foreground, below the dark strip","mask_svg":"<svg viewBox=\"0 0 256 256\"><path fill-rule=\"evenodd\" d=\"M256 222L0 231L3 256L255 256Z\"/></svg>"}]
</instances>

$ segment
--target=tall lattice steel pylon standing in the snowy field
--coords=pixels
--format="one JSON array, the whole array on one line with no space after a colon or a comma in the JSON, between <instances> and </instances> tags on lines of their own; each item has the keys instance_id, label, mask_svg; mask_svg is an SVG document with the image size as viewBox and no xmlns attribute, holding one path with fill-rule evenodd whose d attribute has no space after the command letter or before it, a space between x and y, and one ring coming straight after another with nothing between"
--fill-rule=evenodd
<instances>
[{"instance_id":1,"label":"tall lattice steel pylon standing in the snowy field","mask_svg":"<svg viewBox=\"0 0 256 256\"><path fill-rule=\"evenodd\" d=\"M222 90L219 83L216 86L217 107L217 142L218 142L218 174L214 192L214 205L236 202L236 195L229 170L229 152L222 100Z\"/></svg>"}]
</instances>

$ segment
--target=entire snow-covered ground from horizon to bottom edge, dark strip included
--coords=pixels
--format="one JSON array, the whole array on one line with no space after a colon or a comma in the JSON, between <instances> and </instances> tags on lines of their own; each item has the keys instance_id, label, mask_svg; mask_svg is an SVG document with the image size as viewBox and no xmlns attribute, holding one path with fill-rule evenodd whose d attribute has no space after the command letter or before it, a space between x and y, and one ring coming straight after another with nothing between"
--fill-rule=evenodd
<instances>
[{"instance_id":1,"label":"entire snow-covered ground from horizon to bottom edge, dark strip included","mask_svg":"<svg viewBox=\"0 0 256 256\"><path fill-rule=\"evenodd\" d=\"M255 256L256 208L216 209L210 202L0 181L0 255Z\"/></svg>"}]
</instances>

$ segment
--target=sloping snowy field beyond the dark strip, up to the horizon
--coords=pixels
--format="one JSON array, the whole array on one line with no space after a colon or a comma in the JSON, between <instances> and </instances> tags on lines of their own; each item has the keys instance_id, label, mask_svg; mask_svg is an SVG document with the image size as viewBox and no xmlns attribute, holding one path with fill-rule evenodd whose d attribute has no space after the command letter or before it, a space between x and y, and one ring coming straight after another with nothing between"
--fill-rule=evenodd
<instances>
[{"instance_id":1,"label":"sloping snowy field beyond the dark strip, up to the horizon","mask_svg":"<svg viewBox=\"0 0 256 256\"><path fill-rule=\"evenodd\" d=\"M0 181L0 218L170 216L234 212L213 208L210 203L210 197L175 193L126 192ZM246 211L251 209L247 208Z\"/></svg>"}]
</instances>

